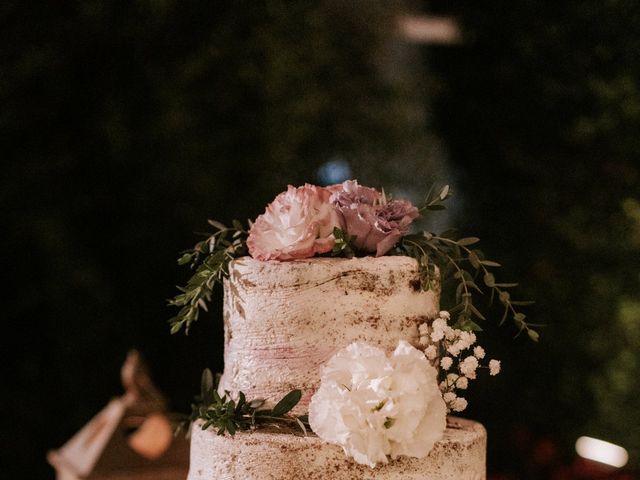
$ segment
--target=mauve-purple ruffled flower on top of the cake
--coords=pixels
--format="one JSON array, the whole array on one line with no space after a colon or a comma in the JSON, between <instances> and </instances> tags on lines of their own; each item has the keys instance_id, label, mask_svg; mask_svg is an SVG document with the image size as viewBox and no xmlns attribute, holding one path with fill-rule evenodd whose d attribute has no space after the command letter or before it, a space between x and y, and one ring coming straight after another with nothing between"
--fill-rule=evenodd
<instances>
[{"instance_id":1,"label":"mauve-purple ruffled flower on top of the cake","mask_svg":"<svg viewBox=\"0 0 640 480\"><path fill-rule=\"evenodd\" d=\"M342 188L332 186L331 202L342 214L341 228L355 235L354 245L376 257L387 253L418 216L418 209L406 200L386 202L373 188L362 187L355 180L347 180Z\"/></svg>"}]
</instances>

